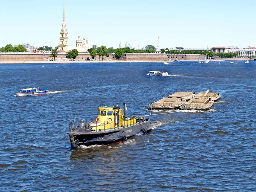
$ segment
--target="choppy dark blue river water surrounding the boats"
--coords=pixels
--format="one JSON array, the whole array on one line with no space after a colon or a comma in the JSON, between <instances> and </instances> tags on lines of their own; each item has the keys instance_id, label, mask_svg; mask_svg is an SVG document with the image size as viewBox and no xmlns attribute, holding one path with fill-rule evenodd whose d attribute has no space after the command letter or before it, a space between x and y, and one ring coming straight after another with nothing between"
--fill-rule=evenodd
<instances>
[{"instance_id":1,"label":"choppy dark blue river water surrounding the boats","mask_svg":"<svg viewBox=\"0 0 256 192\"><path fill-rule=\"evenodd\" d=\"M0 191L255 191L256 61L1 64L0 76ZM14 96L38 86L52 94ZM147 135L70 148L76 112L94 119L98 106L126 102L128 115L147 115L163 96L207 89L222 96L207 113L151 116Z\"/></svg>"}]
</instances>

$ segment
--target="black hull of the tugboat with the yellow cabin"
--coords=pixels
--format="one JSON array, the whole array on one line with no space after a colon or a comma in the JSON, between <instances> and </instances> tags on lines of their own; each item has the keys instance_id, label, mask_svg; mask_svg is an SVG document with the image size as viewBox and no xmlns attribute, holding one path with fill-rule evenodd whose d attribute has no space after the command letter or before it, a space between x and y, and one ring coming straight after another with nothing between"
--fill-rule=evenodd
<instances>
[{"instance_id":1,"label":"black hull of the tugboat with the yellow cabin","mask_svg":"<svg viewBox=\"0 0 256 192\"><path fill-rule=\"evenodd\" d=\"M85 128L71 129L68 133L72 148L79 145L109 145L120 143L128 140L136 134L147 134L151 131L151 122L145 119L144 122L137 123L133 126L120 127L111 131L90 131Z\"/></svg>"}]
</instances>

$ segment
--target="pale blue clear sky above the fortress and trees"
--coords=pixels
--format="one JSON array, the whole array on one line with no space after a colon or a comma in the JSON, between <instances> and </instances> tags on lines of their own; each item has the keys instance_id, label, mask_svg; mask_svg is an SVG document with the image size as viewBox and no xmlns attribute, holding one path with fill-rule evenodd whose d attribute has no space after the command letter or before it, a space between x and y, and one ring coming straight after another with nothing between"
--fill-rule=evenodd
<instances>
[{"instance_id":1,"label":"pale blue clear sky above the fortress and trees","mask_svg":"<svg viewBox=\"0 0 256 192\"><path fill-rule=\"evenodd\" d=\"M255 0L65 0L69 46L77 36L106 47L256 47ZM9 0L0 6L0 47L56 47L63 0Z\"/></svg>"}]
</instances>

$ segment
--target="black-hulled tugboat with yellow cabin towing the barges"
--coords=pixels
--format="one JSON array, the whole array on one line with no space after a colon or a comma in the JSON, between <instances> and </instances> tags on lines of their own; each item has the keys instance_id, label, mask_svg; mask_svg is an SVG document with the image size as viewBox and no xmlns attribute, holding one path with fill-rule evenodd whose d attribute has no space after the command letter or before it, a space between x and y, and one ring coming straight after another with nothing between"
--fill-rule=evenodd
<instances>
[{"instance_id":1,"label":"black-hulled tugboat with yellow cabin towing the barges","mask_svg":"<svg viewBox=\"0 0 256 192\"><path fill-rule=\"evenodd\" d=\"M76 118L75 118L76 119ZM98 107L98 115L93 122L86 123L84 119L70 121L69 137L72 148L80 145L107 145L121 143L136 134L147 134L151 131L151 122L144 117L125 116L122 109L114 107Z\"/></svg>"}]
</instances>

